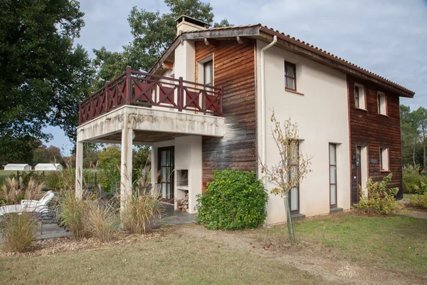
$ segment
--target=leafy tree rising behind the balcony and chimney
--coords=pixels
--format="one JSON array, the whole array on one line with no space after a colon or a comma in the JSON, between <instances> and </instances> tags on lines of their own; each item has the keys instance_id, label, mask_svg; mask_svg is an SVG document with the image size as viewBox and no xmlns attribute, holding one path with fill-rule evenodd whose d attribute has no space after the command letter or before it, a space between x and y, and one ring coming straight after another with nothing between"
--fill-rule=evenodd
<instances>
[{"instance_id":1,"label":"leafy tree rising behind the balcony and chimney","mask_svg":"<svg viewBox=\"0 0 427 285\"><path fill-rule=\"evenodd\" d=\"M181 15L200 19L210 25L214 19L212 6L199 0L165 0L169 13L137 9L134 6L127 21L134 39L123 46L124 51L110 52L104 46L94 49L93 64L97 69L96 86L102 87L106 81L119 76L126 66L132 69L149 71L164 50L176 37L175 20ZM226 19L214 26L231 26Z\"/></svg>"}]
</instances>

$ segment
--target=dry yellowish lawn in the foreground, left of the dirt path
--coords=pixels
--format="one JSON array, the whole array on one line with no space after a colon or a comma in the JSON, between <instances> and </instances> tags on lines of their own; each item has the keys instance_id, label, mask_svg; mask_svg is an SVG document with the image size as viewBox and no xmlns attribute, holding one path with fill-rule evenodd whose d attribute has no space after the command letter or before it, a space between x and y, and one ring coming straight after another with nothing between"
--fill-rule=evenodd
<instances>
[{"instance_id":1,"label":"dry yellowish lawn in the foreground, left of the dirt path","mask_svg":"<svg viewBox=\"0 0 427 285\"><path fill-rule=\"evenodd\" d=\"M0 259L2 284L330 284L278 261L204 238Z\"/></svg>"}]
</instances>

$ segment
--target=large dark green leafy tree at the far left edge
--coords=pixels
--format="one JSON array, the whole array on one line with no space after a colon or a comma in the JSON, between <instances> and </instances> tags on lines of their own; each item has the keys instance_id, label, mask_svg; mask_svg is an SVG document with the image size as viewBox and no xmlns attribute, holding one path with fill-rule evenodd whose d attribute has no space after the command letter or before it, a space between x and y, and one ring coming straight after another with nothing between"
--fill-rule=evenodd
<instances>
[{"instance_id":1,"label":"large dark green leafy tree at the far left edge","mask_svg":"<svg viewBox=\"0 0 427 285\"><path fill-rule=\"evenodd\" d=\"M75 138L78 102L93 69L82 46L84 26L75 0L4 0L0 9L0 137L25 144L48 140L46 125Z\"/></svg>"}]
</instances>

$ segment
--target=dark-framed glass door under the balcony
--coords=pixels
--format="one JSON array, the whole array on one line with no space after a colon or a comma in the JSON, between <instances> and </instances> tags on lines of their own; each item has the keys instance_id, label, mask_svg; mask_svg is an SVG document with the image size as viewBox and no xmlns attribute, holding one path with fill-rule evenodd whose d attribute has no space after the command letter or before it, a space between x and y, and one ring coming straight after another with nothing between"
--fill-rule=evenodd
<instances>
[{"instance_id":1,"label":"dark-framed glass door under the balcony","mask_svg":"<svg viewBox=\"0 0 427 285\"><path fill-rule=\"evenodd\" d=\"M162 184L162 198L174 198L174 149L175 147L159 147L158 170L159 183Z\"/></svg>"}]
</instances>

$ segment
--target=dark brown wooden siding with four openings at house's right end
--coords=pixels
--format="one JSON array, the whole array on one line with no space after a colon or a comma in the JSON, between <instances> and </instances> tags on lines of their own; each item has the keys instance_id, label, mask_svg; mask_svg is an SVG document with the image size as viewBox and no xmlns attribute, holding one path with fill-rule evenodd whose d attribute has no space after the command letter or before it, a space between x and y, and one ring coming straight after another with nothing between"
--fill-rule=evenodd
<instances>
[{"instance_id":1,"label":"dark brown wooden siding with four openings at house's right end","mask_svg":"<svg viewBox=\"0 0 427 285\"><path fill-rule=\"evenodd\" d=\"M365 89L367 110L357 109L354 105L354 82L361 84ZM393 173L390 187L399 187L398 197L402 195L402 155L401 155L401 128L399 113L399 96L366 81L347 76L349 88L349 121L350 121L350 161L352 173L351 199L352 204L358 200L356 156L357 146L367 146L368 176L374 182ZM387 115L379 115L377 105L377 91L386 94ZM379 148L389 148L389 172L381 172L379 166Z\"/></svg>"}]
</instances>

